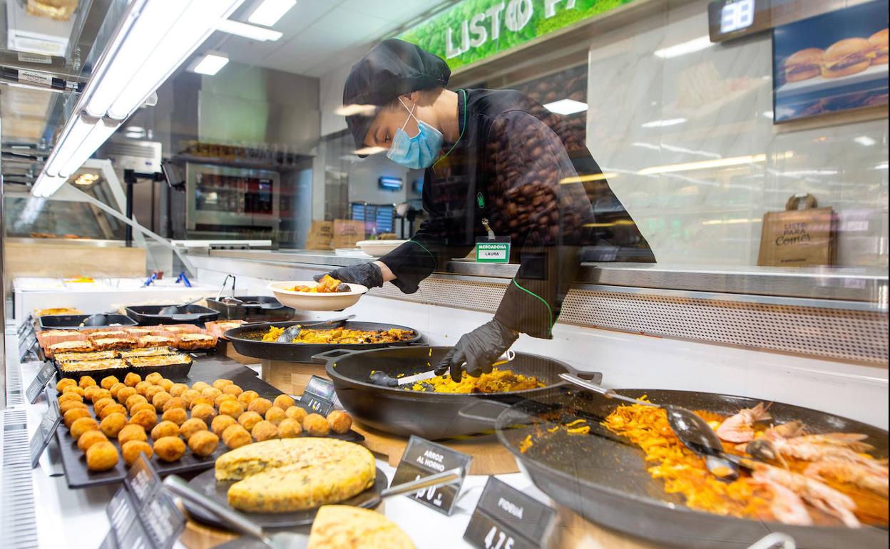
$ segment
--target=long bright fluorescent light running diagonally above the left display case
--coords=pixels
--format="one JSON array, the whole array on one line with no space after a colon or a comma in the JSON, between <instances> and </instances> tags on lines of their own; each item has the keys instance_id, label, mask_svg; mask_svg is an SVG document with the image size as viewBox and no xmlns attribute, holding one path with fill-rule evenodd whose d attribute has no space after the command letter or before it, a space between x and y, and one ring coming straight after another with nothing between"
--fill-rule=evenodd
<instances>
[{"instance_id":1,"label":"long bright fluorescent light running diagonally above the left display case","mask_svg":"<svg viewBox=\"0 0 890 549\"><path fill-rule=\"evenodd\" d=\"M242 2L132 0L31 192L53 194Z\"/></svg>"}]
</instances>

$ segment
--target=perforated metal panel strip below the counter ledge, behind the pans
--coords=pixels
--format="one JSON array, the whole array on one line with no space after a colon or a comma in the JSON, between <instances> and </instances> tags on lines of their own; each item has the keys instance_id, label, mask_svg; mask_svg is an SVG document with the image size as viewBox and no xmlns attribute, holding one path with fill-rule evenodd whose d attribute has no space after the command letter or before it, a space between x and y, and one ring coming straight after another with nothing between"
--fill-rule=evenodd
<instances>
[{"instance_id":1,"label":"perforated metal panel strip below the counter ledge, behind the pans","mask_svg":"<svg viewBox=\"0 0 890 549\"><path fill-rule=\"evenodd\" d=\"M505 289L506 284L426 279L416 294L402 294L386 285L373 290L372 295L494 312ZM679 294L573 289L562 305L559 321L820 358L887 362L886 313Z\"/></svg>"}]
</instances>

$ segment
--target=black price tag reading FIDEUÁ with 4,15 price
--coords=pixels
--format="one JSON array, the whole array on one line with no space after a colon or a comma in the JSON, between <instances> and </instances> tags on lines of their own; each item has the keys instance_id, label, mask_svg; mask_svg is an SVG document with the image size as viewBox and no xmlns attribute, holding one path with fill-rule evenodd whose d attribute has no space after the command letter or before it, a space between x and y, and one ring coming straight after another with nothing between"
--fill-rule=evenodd
<instances>
[{"instance_id":1,"label":"black price tag reading FIDEU\u00c1 with 4,15 price","mask_svg":"<svg viewBox=\"0 0 890 549\"><path fill-rule=\"evenodd\" d=\"M537 499L490 477L464 539L479 549L546 547L556 513Z\"/></svg>"}]
</instances>

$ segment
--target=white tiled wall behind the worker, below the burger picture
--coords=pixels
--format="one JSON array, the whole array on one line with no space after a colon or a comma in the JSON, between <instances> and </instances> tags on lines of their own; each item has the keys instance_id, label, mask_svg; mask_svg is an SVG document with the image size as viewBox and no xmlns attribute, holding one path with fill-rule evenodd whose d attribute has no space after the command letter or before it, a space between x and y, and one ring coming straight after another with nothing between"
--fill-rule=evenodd
<instances>
[{"instance_id":1,"label":"white tiled wall behind the worker, below the burger picture","mask_svg":"<svg viewBox=\"0 0 890 549\"><path fill-rule=\"evenodd\" d=\"M805 131L773 125L770 33L670 58L653 53L707 35L700 2L591 37L587 147L614 174L612 189L658 261L754 265L763 215L809 192L840 218L839 264L886 268L886 118ZM755 161L636 173L747 156Z\"/></svg>"}]
</instances>

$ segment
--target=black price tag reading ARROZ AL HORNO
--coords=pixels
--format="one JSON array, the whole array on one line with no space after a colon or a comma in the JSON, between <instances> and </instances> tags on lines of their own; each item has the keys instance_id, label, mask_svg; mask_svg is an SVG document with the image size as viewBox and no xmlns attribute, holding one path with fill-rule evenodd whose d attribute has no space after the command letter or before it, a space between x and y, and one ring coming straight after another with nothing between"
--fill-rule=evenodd
<instances>
[{"instance_id":1,"label":"black price tag reading ARROZ AL HORNO","mask_svg":"<svg viewBox=\"0 0 890 549\"><path fill-rule=\"evenodd\" d=\"M391 486L428 477L437 472L459 468L461 470L459 483L449 486L424 488L409 495L409 497L428 507L432 507L439 513L450 515L454 512L457 495L464 484L466 473L470 470L471 461L473 461L472 456L467 456L457 450L452 450L441 444L412 435L408 440L408 447L405 448L405 453L401 456L401 462L396 468L395 474L392 475Z\"/></svg>"}]
</instances>

